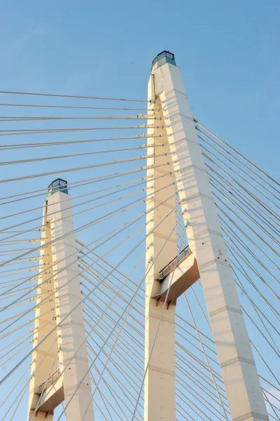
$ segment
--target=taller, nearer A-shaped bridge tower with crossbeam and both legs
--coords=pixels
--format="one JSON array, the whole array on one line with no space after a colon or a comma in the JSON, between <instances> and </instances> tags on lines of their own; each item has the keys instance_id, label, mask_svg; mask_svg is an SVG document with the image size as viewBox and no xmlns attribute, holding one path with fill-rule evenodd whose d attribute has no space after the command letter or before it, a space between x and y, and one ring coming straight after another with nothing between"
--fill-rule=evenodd
<instances>
[{"instance_id":1,"label":"taller, nearer A-shaped bridge tower with crossbeam and both legs","mask_svg":"<svg viewBox=\"0 0 280 421\"><path fill-rule=\"evenodd\" d=\"M166 177L174 182L174 185L165 189L163 193L158 191L161 178L149 182L150 187L157 193L147 203L147 210L158 203L162 204L149 213L147 220L147 268L151 261L154 261L154 266L146 278L147 375L144 419L175 420L175 305L178 297L200 278L232 420L268 420L225 241L196 135L195 120L189 108L180 68L175 65L174 55L168 51L157 55L152 62L148 99L161 101L161 104L150 103L149 114L154 116L156 113L156 116L161 116L164 126L161 131L158 128L149 128L149 135L157 136L160 133L163 137L148 138L148 144L165 144L166 152L166 156L163 157L161 148L150 148L153 149L153 155L161 156L149 158L148 165L168 162L170 173ZM147 171L147 175L152 178L161 173L161 169L156 166ZM175 185L189 244L189 248L178 256L177 232L171 232L176 222ZM169 196L172 197L166 200ZM149 234L161 220L164 222L160 228ZM175 259L172 262L173 257ZM171 271L174 273L170 273ZM164 304L166 308L162 313Z\"/></svg>"}]
</instances>

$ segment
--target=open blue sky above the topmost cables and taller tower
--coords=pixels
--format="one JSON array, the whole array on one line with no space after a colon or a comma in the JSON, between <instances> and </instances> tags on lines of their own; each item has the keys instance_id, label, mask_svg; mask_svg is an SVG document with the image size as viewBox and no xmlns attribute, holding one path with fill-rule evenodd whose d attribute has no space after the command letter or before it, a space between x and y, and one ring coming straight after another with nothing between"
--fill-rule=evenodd
<instances>
[{"instance_id":1,"label":"open blue sky above the topmost cables and taller tower","mask_svg":"<svg viewBox=\"0 0 280 421\"><path fill-rule=\"evenodd\" d=\"M1 1L0 86L145 98L150 62L167 49L194 116L275 177L279 8L276 0Z\"/></svg>"}]
</instances>

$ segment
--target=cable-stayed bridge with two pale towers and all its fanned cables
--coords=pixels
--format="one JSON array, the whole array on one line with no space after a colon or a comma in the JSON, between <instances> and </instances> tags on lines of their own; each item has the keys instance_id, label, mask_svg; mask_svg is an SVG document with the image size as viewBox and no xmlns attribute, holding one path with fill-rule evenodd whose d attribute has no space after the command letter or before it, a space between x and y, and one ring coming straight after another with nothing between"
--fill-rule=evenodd
<instances>
[{"instance_id":1,"label":"cable-stayed bridge with two pale towers and all its fanned cables","mask_svg":"<svg viewBox=\"0 0 280 421\"><path fill-rule=\"evenodd\" d=\"M174 55L147 99L0 95L1 420L279 420L280 184Z\"/></svg>"}]
</instances>

